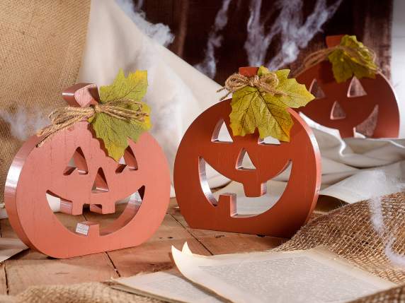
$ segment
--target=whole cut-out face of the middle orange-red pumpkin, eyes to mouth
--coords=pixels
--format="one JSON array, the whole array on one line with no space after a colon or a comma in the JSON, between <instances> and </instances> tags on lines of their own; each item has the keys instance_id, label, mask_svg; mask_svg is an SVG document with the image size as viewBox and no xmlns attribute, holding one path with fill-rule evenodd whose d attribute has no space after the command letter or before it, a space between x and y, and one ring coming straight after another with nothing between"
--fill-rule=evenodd
<instances>
[{"instance_id":1,"label":"whole cut-out face of the middle orange-red pumpkin, eyes to mouth","mask_svg":"<svg viewBox=\"0 0 405 303\"><path fill-rule=\"evenodd\" d=\"M224 120L219 120L215 131L212 135L212 142L217 144L232 144L234 139L230 135ZM258 145L280 145L280 141L273 137L258 138ZM284 167L280 167L281 170L275 177L268 180L258 180L258 172L253 161L249 157L249 153L245 148L239 151L239 155L236 159L234 170L237 171L234 176L240 177L241 180L245 180L244 183L238 182L232 178L232 182L222 189L212 191L218 187L218 181L224 184L224 180L231 181L227 176L224 176L215 169L214 165L208 162L205 158L199 159L199 171L200 171L200 184L203 189L203 193L208 201L213 206L218 206L219 201L223 203L230 203L232 217L253 217L266 213L270 208L275 206L287 187L287 182L290 180L290 173L292 169L292 161L287 160ZM207 172L210 176L215 176L214 181L207 179ZM263 172L262 172L263 173ZM245 176L243 176L246 174ZM247 178L246 178L247 177ZM249 182L249 179L256 179L256 182ZM246 180L248 179L248 180ZM240 180L240 181L241 181ZM278 180L278 181L275 181ZM246 182L247 181L247 182ZM280 182L284 181L284 182Z\"/></svg>"}]
</instances>

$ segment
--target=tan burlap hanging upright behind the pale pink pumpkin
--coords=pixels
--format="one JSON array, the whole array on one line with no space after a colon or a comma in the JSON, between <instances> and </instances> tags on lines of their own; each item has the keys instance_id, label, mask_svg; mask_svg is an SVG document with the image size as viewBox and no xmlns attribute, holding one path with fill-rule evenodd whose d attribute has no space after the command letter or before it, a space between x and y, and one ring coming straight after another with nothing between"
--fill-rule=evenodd
<instances>
[{"instance_id":1,"label":"tan burlap hanging upright behind the pale pink pumpkin","mask_svg":"<svg viewBox=\"0 0 405 303\"><path fill-rule=\"evenodd\" d=\"M22 107L27 112L26 120L30 121L38 119L38 113L46 116L50 110L64 105L61 92L76 81L89 10L90 0L0 1L2 112L13 113ZM6 121L0 119L1 189L11 160L22 143L11 135ZM3 195L1 190L1 202Z\"/></svg>"}]
</instances>

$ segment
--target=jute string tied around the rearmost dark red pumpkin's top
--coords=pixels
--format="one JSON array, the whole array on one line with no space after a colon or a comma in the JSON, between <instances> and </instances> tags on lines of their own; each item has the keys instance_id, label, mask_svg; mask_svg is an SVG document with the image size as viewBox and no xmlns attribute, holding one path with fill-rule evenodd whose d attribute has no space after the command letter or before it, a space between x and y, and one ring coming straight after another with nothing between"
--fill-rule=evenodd
<instances>
[{"instance_id":1,"label":"jute string tied around the rearmost dark red pumpkin's top","mask_svg":"<svg viewBox=\"0 0 405 303\"><path fill-rule=\"evenodd\" d=\"M316 64L321 63L321 61L325 61L326 59L328 59L329 55L332 52L334 52L336 49L343 50L343 52L346 52L349 57L355 59L355 62L357 64L360 64L361 66L366 67L373 73L377 73L377 72L381 71L380 68L377 66L375 68L370 66L370 64L369 64L370 61L365 58L365 55L363 53L370 55L370 57L372 58L372 61L375 62L376 54L375 54L374 50L370 49L369 47L364 47L360 51L353 47L336 45L336 47L328 47L326 49L320 49L319 51L309 54L307 57L305 57L304 61L302 61L302 65L300 66L300 68L297 69L297 71L295 71L295 75L299 75L300 73L302 73L302 71L309 69L312 66L315 66Z\"/></svg>"}]
</instances>

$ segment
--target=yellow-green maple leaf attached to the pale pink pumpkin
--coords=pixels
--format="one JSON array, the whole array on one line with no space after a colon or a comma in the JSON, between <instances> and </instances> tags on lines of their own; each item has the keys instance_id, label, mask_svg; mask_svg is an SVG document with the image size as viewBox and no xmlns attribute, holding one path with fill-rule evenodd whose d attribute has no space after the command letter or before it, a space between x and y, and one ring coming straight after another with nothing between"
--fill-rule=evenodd
<instances>
[{"instance_id":1,"label":"yellow-green maple leaf attached to the pale pink pumpkin","mask_svg":"<svg viewBox=\"0 0 405 303\"><path fill-rule=\"evenodd\" d=\"M100 102L111 103L115 106L138 110L142 104L142 112L149 114L150 108L141 102L147 92L147 71L136 71L125 77L122 69L111 85L101 86ZM135 102L129 102L135 101ZM150 129L149 115L144 121L118 119L103 112L96 113L89 119L96 133L107 150L108 155L115 161L119 161L128 146L128 138L137 142L139 136Z\"/></svg>"}]
</instances>

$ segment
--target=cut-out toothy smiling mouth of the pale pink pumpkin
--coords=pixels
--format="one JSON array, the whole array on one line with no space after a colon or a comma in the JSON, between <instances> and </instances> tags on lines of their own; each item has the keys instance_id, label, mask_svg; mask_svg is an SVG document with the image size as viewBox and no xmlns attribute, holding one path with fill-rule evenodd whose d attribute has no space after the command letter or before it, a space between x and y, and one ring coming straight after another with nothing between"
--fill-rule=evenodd
<instances>
[{"instance_id":1,"label":"cut-out toothy smiling mouth of the pale pink pumpkin","mask_svg":"<svg viewBox=\"0 0 405 303\"><path fill-rule=\"evenodd\" d=\"M115 211L108 214L102 214L101 205L84 203L81 214L72 215L74 201L69 201L51 191L47 191L46 198L53 211L61 212L55 213L55 217L67 230L84 236L92 233L103 236L125 227L137 215L142 205L144 191L145 186L141 186L130 196L120 199L114 204L111 203ZM98 193L103 194L103 191L98 191ZM61 220L67 215L72 217L72 220ZM72 223L72 221L77 222Z\"/></svg>"}]
</instances>

